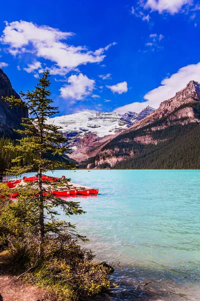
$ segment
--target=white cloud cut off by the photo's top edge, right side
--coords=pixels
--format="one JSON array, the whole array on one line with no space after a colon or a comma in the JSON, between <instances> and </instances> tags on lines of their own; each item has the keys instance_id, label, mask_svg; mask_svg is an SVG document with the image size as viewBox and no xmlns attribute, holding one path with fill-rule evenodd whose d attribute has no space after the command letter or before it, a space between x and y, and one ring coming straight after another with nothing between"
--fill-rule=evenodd
<instances>
[{"instance_id":1,"label":"white cloud cut off by the photo's top edge, right side","mask_svg":"<svg viewBox=\"0 0 200 301\"><path fill-rule=\"evenodd\" d=\"M192 0L147 0L140 1L140 6L144 9L151 9L151 11L158 11L159 14L167 12L171 15L179 13L183 6L192 5Z\"/></svg>"}]
</instances>

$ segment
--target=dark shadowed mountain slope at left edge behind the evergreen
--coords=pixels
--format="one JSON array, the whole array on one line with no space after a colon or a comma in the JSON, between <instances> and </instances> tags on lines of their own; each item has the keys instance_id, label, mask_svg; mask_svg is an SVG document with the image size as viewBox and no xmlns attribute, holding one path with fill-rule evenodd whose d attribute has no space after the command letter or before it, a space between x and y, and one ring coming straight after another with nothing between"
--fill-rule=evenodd
<instances>
[{"instance_id":1,"label":"dark shadowed mountain slope at left edge behind the evergreen","mask_svg":"<svg viewBox=\"0 0 200 301\"><path fill-rule=\"evenodd\" d=\"M15 136L13 129L19 129L21 118L28 116L28 111L25 108L14 106L11 109L9 104L1 98L11 95L19 98L19 95L12 88L7 75L0 69L0 136Z\"/></svg>"}]
</instances>

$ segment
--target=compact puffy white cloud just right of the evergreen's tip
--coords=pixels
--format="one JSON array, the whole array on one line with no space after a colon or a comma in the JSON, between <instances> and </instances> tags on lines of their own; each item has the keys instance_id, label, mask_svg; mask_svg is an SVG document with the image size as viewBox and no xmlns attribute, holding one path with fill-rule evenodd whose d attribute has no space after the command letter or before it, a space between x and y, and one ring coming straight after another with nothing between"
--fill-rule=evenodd
<instances>
[{"instance_id":1,"label":"compact puffy white cloud just right of the evergreen's tip","mask_svg":"<svg viewBox=\"0 0 200 301\"><path fill-rule=\"evenodd\" d=\"M82 100L85 96L90 95L95 85L93 79L89 79L82 73L69 76L67 83L60 88L60 96L64 99L71 98L75 100Z\"/></svg>"}]
</instances>

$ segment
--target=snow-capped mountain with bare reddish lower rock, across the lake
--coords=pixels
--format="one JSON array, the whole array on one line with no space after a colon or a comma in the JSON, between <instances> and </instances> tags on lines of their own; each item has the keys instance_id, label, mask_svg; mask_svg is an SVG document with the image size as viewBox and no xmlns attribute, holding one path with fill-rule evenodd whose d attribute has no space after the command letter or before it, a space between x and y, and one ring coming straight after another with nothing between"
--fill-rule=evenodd
<instances>
[{"instance_id":1,"label":"snow-capped mountain with bare reddish lower rock, across the lake","mask_svg":"<svg viewBox=\"0 0 200 301\"><path fill-rule=\"evenodd\" d=\"M63 135L69 139L69 146L74 150L70 157L80 162L88 158L93 149L97 151L108 139L129 128L152 111L154 109L150 107L139 114L127 112L123 115L117 112L84 111L48 118L47 123L62 127Z\"/></svg>"}]
</instances>

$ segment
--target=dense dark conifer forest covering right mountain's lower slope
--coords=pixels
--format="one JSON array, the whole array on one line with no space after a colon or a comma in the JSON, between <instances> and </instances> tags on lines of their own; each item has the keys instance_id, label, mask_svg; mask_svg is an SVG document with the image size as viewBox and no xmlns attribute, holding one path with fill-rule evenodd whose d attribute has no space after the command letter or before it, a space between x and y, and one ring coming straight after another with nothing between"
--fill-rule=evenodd
<instances>
[{"instance_id":1,"label":"dense dark conifer forest covering right mountain's lower slope","mask_svg":"<svg viewBox=\"0 0 200 301\"><path fill-rule=\"evenodd\" d=\"M142 150L138 147L140 153L117 163L114 169L200 169L199 124L170 126L160 135L168 140L156 145L142 145Z\"/></svg>"}]
</instances>

